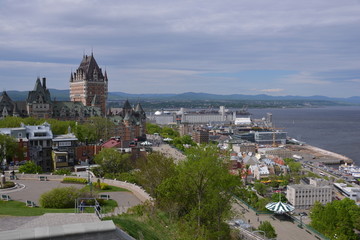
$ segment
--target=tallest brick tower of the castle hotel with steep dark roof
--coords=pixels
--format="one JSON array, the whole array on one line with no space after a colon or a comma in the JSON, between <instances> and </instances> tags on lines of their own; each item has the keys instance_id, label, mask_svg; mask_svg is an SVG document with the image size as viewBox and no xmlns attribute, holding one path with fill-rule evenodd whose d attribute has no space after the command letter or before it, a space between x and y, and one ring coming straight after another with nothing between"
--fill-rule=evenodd
<instances>
[{"instance_id":1,"label":"tallest brick tower of the castle hotel with steep dark roof","mask_svg":"<svg viewBox=\"0 0 360 240\"><path fill-rule=\"evenodd\" d=\"M70 75L70 101L82 102L85 106L96 106L106 115L108 78L103 74L96 60L84 55L76 72Z\"/></svg>"}]
</instances>

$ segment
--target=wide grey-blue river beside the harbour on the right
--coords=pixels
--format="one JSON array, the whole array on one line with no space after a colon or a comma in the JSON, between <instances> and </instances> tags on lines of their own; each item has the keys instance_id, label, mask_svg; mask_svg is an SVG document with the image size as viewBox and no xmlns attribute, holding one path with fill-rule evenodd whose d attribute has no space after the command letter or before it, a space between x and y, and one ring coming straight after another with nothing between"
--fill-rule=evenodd
<instances>
[{"instance_id":1,"label":"wide grey-blue river beside the harbour on the right","mask_svg":"<svg viewBox=\"0 0 360 240\"><path fill-rule=\"evenodd\" d=\"M288 136L345 155L360 165L360 106L250 109L253 118L273 114L275 128Z\"/></svg>"}]
</instances>

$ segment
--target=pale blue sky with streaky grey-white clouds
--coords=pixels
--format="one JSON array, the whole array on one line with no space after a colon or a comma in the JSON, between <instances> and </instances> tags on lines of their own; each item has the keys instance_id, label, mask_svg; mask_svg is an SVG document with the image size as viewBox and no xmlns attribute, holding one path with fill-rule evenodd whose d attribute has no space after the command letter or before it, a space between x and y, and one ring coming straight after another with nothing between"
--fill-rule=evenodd
<instances>
[{"instance_id":1,"label":"pale blue sky with streaky grey-white clouds","mask_svg":"<svg viewBox=\"0 0 360 240\"><path fill-rule=\"evenodd\" d=\"M360 96L359 0L0 0L2 90Z\"/></svg>"}]
</instances>

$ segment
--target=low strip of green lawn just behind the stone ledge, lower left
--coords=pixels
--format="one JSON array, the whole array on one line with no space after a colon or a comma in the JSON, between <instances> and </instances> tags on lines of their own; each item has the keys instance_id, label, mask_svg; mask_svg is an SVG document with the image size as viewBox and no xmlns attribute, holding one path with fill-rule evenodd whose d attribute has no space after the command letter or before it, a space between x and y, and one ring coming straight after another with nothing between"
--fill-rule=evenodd
<instances>
[{"instance_id":1,"label":"low strip of green lawn just behind the stone ledge, lower left","mask_svg":"<svg viewBox=\"0 0 360 240\"><path fill-rule=\"evenodd\" d=\"M106 200L102 206L103 213L108 213L116 208L115 200ZM0 216L40 216L45 213L74 213L74 208L43 208L43 207L27 207L25 203L18 201L0 201ZM93 213L94 208L85 208L85 213Z\"/></svg>"}]
</instances>

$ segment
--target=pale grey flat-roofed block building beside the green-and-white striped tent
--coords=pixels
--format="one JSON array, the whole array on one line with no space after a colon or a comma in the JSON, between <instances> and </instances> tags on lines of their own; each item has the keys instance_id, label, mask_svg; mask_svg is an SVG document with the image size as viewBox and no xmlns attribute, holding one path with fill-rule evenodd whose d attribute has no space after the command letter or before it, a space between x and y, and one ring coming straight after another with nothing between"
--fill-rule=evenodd
<instances>
[{"instance_id":1,"label":"pale grey flat-roofed block building beside the green-and-white striped tent","mask_svg":"<svg viewBox=\"0 0 360 240\"><path fill-rule=\"evenodd\" d=\"M310 178L309 184L288 185L286 198L295 208L308 209L317 201L322 204L331 202L332 191L328 181Z\"/></svg>"}]
</instances>

